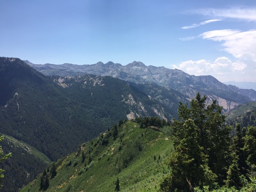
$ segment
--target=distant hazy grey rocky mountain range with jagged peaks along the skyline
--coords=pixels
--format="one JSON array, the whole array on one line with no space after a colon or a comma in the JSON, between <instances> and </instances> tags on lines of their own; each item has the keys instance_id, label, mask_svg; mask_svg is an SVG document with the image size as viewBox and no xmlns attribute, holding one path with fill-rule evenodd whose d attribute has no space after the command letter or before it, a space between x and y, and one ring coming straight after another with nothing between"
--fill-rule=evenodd
<instances>
[{"instance_id":1,"label":"distant hazy grey rocky mountain range with jagged peaks along the skyline","mask_svg":"<svg viewBox=\"0 0 256 192\"><path fill-rule=\"evenodd\" d=\"M160 86L175 89L188 98L193 98L196 92L206 94L209 102L217 100L225 110L256 99L256 91L239 89L226 85L212 76L191 76L178 69L146 66L142 62L132 62L126 66L109 61L106 64L98 62L93 65L35 65L26 61L36 70L45 75L74 76L81 74L109 75L134 83L151 82Z\"/></svg>"}]
</instances>

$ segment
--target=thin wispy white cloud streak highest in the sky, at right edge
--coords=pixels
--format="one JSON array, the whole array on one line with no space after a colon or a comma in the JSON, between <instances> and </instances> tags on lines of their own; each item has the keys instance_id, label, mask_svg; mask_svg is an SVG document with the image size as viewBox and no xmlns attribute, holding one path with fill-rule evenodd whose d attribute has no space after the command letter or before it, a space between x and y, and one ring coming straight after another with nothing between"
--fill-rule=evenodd
<instances>
[{"instance_id":1,"label":"thin wispy white cloud streak highest in the sky, at right edge","mask_svg":"<svg viewBox=\"0 0 256 192\"><path fill-rule=\"evenodd\" d=\"M256 21L256 7L231 9L200 9L192 12L212 17L224 17Z\"/></svg>"}]
</instances>

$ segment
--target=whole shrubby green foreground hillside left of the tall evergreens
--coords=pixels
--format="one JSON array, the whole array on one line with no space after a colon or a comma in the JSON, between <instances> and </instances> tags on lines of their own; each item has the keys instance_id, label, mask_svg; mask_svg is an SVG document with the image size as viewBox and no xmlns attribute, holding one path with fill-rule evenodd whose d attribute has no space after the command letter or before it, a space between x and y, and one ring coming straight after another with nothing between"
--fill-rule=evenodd
<instances>
[{"instance_id":1,"label":"whole shrubby green foreground hillside left of the tall evergreens","mask_svg":"<svg viewBox=\"0 0 256 192\"><path fill-rule=\"evenodd\" d=\"M157 191L170 170L171 128L155 117L147 118L143 128L136 122L120 121L52 163L20 191L103 192L114 191L117 183L120 191Z\"/></svg>"}]
</instances>

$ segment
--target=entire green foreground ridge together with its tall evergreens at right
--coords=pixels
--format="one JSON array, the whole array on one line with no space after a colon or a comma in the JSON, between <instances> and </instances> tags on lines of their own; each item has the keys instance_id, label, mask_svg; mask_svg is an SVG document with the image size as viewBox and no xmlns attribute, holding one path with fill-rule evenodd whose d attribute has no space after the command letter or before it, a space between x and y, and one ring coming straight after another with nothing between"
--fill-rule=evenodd
<instances>
[{"instance_id":1,"label":"entire green foreground ridge together with its tall evergreens at right","mask_svg":"<svg viewBox=\"0 0 256 192\"><path fill-rule=\"evenodd\" d=\"M121 120L21 191L255 191L256 127L227 125L205 101L180 103L174 122Z\"/></svg>"}]
</instances>

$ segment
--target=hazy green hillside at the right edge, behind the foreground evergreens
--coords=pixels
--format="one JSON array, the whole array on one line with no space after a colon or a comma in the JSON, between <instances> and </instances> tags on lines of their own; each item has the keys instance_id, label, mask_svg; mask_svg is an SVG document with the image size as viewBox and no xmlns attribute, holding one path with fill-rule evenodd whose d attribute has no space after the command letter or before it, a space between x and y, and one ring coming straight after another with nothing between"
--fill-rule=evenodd
<instances>
[{"instance_id":1,"label":"hazy green hillside at the right edge, behind the foreground evergreens","mask_svg":"<svg viewBox=\"0 0 256 192\"><path fill-rule=\"evenodd\" d=\"M227 123L230 125L240 123L241 127L248 125L256 126L256 101L244 103L237 108L225 113L227 115Z\"/></svg>"}]
</instances>

